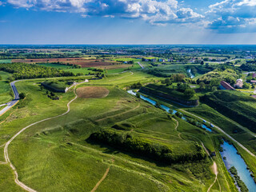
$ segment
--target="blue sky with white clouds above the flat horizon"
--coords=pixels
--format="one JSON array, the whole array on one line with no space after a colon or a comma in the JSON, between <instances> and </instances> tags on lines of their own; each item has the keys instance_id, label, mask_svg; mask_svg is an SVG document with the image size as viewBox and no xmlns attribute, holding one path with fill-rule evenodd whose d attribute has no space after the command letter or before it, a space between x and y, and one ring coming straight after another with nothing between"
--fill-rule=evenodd
<instances>
[{"instance_id":1,"label":"blue sky with white clouds above the flat horizon","mask_svg":"<svg viewBox=\"0 0 256 192\"><path fill-rule=\"evenodd\" d=\"M0 0L0 44L256 44L256 0Z\"/></svg>"}]
</instances>

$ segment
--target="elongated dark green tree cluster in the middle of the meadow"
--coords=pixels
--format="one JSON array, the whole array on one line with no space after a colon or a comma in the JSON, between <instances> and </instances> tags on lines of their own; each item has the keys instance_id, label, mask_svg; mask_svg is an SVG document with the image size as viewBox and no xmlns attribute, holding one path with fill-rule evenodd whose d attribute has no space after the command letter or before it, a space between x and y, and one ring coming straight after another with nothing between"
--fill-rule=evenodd
<instances>
[{"instance_id":1,"label":"elongated dark green tree cluster in the middle of the meadow","mask_svg":"<svg viewBox=\"0 0 256 192\"><path fill-rule=\"evenodd\" d=\"M90 138L114 146L120 150L126 150L166 164L175 162L193 162L206 158L205 151L202 149L202 146L198 145L198 143L194 143L197 149L194 152L187 151L184 154L174 154L168 146L161 143L146 141L126 131L118 132L112 129L104 129L91 134Z\"/></svg>"}]
</instances>

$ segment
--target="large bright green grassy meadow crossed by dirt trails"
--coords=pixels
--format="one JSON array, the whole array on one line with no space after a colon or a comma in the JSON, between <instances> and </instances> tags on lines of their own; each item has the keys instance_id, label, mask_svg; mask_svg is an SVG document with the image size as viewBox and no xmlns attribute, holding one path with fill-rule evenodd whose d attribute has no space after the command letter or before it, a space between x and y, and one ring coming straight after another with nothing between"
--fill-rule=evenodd
<instances>
[{"instance_id":1,"label":"large bright green grassy meadow crossed by dirt trails","mask_svg":"<svg viewBox=\"0 0 256 192\"><path fill-rule=\"evenodd\" d=\"M190 152L193 150L190 146L199 141L214 150L217 135L208 134L180 118L170 119L165 111L122 90L134 82L154 80L156 78L149 74L127 72L109 74L102 80L81 85L103 86L110 93L106 98L77 98L71 103L69 114L32 126L15 138L9 146L9 154L20 180L38 191L57 191L60 186L62 191L88 191L110 168L98 191L206 191L214 182L209 158L163 166L138 154L88 140L97 130L129 122L134 125L134 129L128 131L130 134L173 146L180 153L184 149ZM22 127L64 113L67 102L74 98L70 90L58 94L59 101L52 101L38 82L42 80L17 83L26 98L0 118L0 122L5 122L0 124L1 145ZM218 159L223 172L218 177L219 183L222 189L234 191L234 184L230 178L225 178L226 170L221 165ZM10 168L0 165L0 169L9 175L1 180L0 190L16 187Z\"/></svg>"}]
</instances>

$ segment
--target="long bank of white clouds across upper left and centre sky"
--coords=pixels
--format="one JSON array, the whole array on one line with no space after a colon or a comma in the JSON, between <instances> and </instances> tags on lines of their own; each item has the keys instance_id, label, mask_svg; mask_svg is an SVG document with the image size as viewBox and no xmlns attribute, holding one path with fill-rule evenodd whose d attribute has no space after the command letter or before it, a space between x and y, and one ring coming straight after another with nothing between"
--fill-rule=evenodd
<instances>
[{"instance_id":1,"label":"long bank of white clouds across upper left and centre sky","mask_svg":"<svg viewBox=\"0 0 256 192\"><path fill-rule=\"evenodd\" d=\"M178 5L178 0L7 0L19 8L77 12L82 17L141 18L153 25L199 22L203 16Z\"/></svg>"}]
</instances>

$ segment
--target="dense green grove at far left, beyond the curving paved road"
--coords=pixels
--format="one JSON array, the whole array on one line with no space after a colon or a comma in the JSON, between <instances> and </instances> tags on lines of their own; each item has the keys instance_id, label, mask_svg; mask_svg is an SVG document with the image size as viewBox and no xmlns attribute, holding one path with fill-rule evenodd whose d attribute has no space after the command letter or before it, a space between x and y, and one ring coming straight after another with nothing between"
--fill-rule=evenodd
<instances>
[{"instance_id":1,"label":"dense green grove at far left, beyond the curving paved road","mask_svg":"<svg viewBox=\"0 0 256 192\"><path fill-rule=\"evenodd\" d=\"M53 78L62 76L75 76L70 71L58 70L53 67L38 66L26 63L0 64L0 70L13 74L9 80L26 78Z\"/></svg>"}]
</instances>

